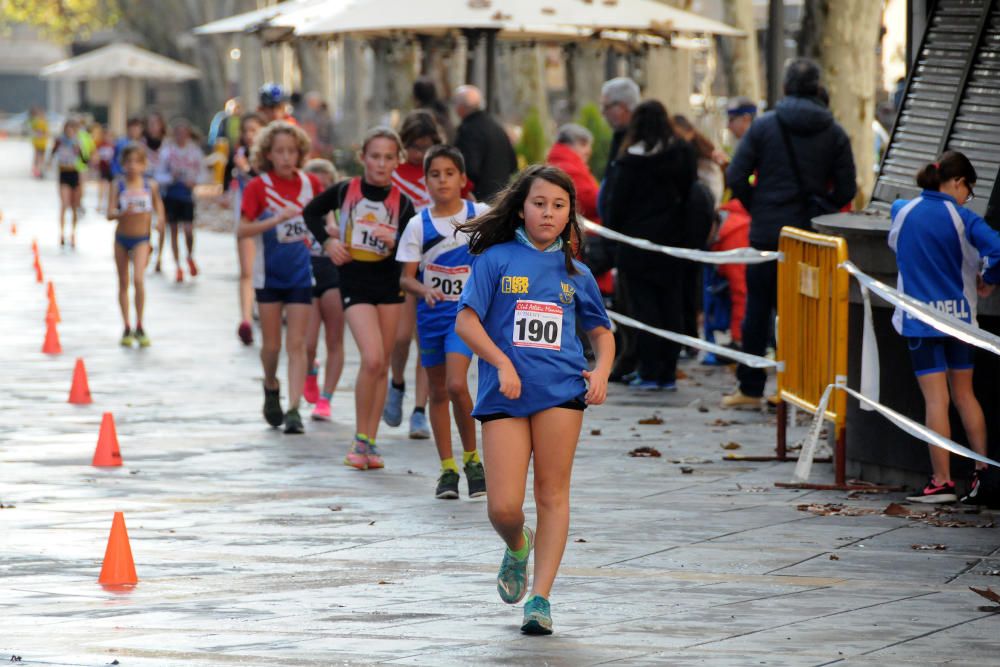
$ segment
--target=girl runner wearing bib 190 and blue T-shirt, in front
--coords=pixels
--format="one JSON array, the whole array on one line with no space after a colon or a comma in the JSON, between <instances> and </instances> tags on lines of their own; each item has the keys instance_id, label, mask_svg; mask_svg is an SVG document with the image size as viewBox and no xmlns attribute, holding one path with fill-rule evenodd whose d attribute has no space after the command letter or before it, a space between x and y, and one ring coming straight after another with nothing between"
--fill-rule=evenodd
<instances>
[{"instance_id":1,"label":"girl runner wearing bib 190 and blue T-shirt, in front","mask_svg":"<svg viewBox=\"0 0 1000 667\"><path fill-rule=\"evenodd\" d=\"M587 405L604 402L614 337L590 271L573 259L582 238L573 181L561 169L528 168L494 208L459 228L478 254L462 291L455 331L479 360L472 414L483 424L490 521L507 544L497 591L508 604L532 595L521 631L551 634L548 596L569 533L569 483ZM577 321L596 363L587 369ZM534 459L537 539L524 522Z\"/></svg>"}]
</instances>

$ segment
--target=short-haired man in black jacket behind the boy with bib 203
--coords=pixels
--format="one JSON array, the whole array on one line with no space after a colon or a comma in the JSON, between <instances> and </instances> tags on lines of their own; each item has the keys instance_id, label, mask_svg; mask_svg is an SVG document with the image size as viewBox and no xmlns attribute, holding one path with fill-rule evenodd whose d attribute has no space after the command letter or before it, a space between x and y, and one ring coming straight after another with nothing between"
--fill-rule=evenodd
<instances>
[{"instance_id":1,"label":"short-haired man in black jacket behind the boy with bib 203","mask_svg":"<svg viewBox=\"0 0 1000 667\"><path fill-rule=\"evenodd\" d=\"M483 95L475 86L455 91L455 113L462 119L455 135L455 148L462 151L472 192L488 202L507 187L517 172L517 155L507 131L483 110Z\"/></svg>"}]
</instances>

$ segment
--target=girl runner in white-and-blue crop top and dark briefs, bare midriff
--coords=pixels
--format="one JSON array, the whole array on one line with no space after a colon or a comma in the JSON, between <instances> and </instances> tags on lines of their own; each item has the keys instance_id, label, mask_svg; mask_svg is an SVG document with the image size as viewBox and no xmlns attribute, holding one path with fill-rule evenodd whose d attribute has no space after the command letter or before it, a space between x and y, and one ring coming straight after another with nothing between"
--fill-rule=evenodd
<instances>
[{"instance_id":1,"label":"girl runner in white-and-blue crop top and dark briefs, bare midriff","mask_svg":"<svg viewBox=\"0 0 1000 667\"><path fill-rule=\"evenodd\" d=\"M115 266L118 267L118 305L125 322L121 344L132 347L149 347L149 336L142 328L142 314L146 305L146 264L149 262L149 235L152 231L153 213L156 227L162 229L166 221L160 188L156 181L145 175L146 149L140 144L129 144L121 151L122 175L115 177L108 188L108 220L118 222L115 229ZM132 281L135 287L135 329L129 320L128 267L132 263Z\"/></svg>"}]
</instances>

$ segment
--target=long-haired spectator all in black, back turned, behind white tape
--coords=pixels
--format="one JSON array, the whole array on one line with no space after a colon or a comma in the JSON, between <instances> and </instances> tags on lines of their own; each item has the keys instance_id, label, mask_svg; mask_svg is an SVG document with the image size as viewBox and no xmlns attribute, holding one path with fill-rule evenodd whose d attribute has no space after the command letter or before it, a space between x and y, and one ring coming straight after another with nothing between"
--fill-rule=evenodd
<instances>
[{"instance_id":1,"label":"long-haired spectator all in black, back turned, behind white tape","mask_svg":"<svg viewBox=\"0 0 1000 667\"><path fill-rule=\"evenodd\" d=\"M694 149L674 133L670 116L655 100L632 114L615 161L604 224L618 232L669 246L688 242L685 206L698 177ZM631 316L645 324L681 331L683 263L630 245L618 247L618 275L628 284ZM639 332L640 389L676 389L679 346Z\"/></svg>"}]
</instances>

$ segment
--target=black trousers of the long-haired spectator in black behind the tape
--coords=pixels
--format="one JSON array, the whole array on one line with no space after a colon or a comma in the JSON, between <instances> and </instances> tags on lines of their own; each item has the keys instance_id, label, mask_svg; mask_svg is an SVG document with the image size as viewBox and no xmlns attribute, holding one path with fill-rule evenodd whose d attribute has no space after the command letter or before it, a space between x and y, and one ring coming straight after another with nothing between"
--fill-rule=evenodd
<instances>
[{"instance_id":1,"label":"black trousers of the long-haired spectator in black behind the tape","mask_svg":"<svg viewBox=\"0 0 1000 667\"><path fill-rule=\"evenodd\" d=\"M648 273L626 270L629 288L631 317L643 324L683 333L684 281L679 264L657 271L651 278ZM643 380L672 383L677 379L677 356L680 345L659 336L639 331L636 334L636 351L639 357L638 372Z\"/></svg>"}]
</instances>

